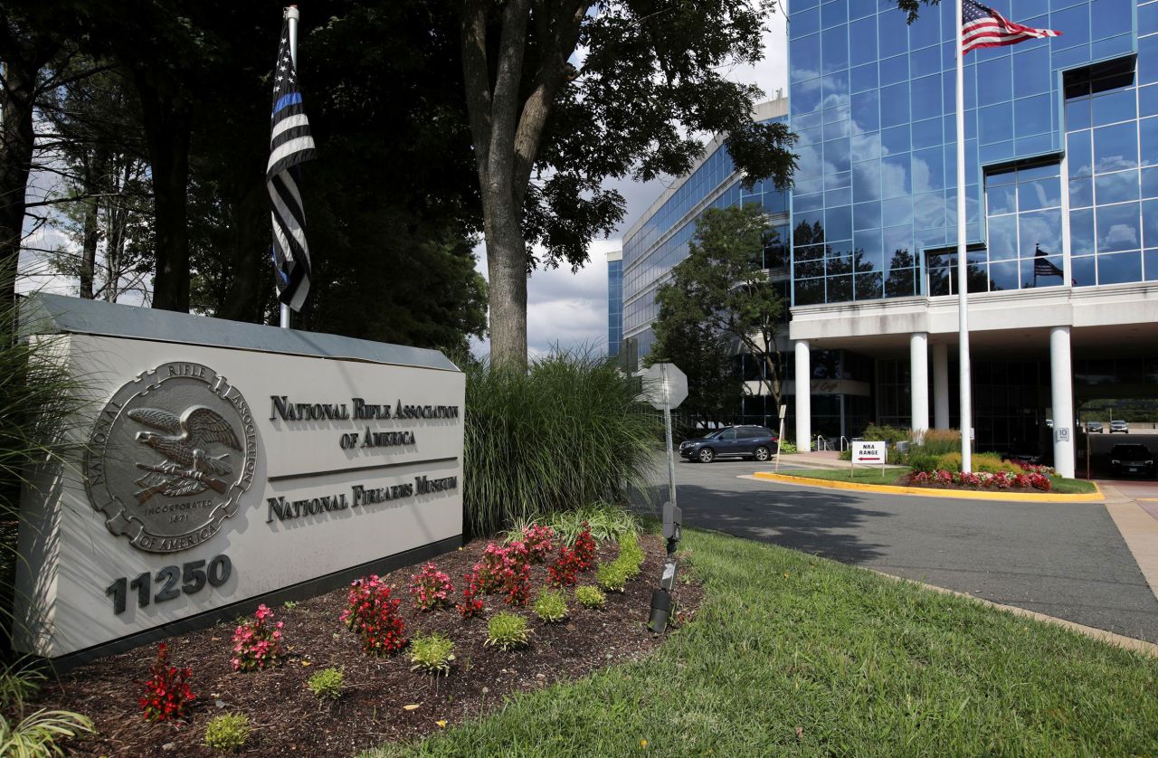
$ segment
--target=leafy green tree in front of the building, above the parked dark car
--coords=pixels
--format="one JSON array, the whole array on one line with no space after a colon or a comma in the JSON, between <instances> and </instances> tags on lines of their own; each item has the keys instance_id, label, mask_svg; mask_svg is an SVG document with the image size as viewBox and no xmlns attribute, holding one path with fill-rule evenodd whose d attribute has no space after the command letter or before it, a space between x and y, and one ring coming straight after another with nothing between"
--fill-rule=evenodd
<instances>
[{"instance_id":1,"label":"leafy green tree in front of the building, above the parked dark car","mask_svg":"<svg viewBox=\"0 0 1158 758\"><path fill-rule=\"evenodd\" d=\"M784 299L768 272L753 265L771 234L758 206L705 211L696 221L688 257L655 294L657 334L669 339L680 324L694 323L708 339L736 340L760 361L761 384L778 407L784 359L776 337L784 321ZM669 331L672 326L676 329Z\"/></svg>"}]
</instances>

